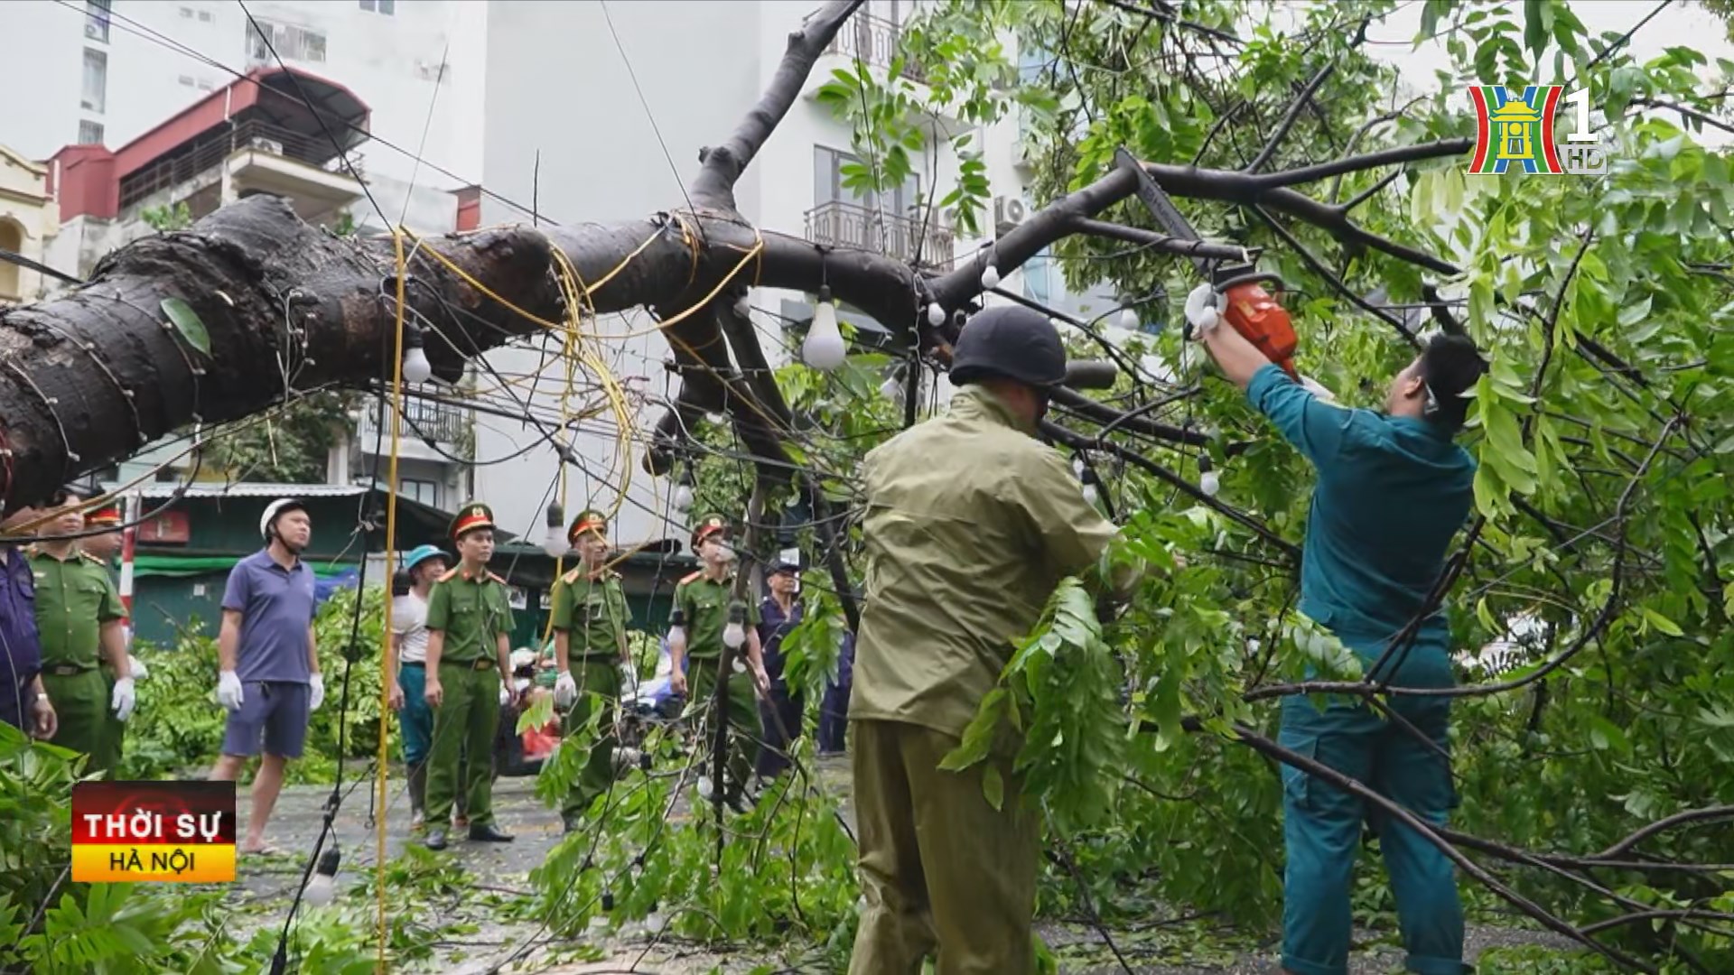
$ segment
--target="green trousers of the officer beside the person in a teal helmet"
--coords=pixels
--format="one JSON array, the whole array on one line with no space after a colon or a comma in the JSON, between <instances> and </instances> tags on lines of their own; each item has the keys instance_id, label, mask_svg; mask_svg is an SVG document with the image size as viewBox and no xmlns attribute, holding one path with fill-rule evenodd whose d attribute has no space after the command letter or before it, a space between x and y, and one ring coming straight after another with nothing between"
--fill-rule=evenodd
<instances>
[{"instance_id":1,"label":"green trousers of the officer beside the person in a teal helmet","mask_svg":"<svg viewBox=\"0 0 1734 975\"><path fill-rule=\"evenodd\" d=\"M499 729L499 671L468 663L440 663L444 701L434 708L434 748L428 753L428 829L451 822L451 807L463 789L470 826L494 822L494 775L489 756ZM468 762L460 758L468 753Z\"/></svg>"}]
</instances>

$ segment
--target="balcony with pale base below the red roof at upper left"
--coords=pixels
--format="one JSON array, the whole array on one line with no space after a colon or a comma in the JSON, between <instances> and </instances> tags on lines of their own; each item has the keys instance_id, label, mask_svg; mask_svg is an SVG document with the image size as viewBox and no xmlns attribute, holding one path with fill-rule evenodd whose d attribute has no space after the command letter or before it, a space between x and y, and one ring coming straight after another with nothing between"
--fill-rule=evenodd
<instances>
[{"instance_id":1,"label":"balcony with pale base below the red roof at upper left","mask_svg":"<svg viewBox=\"0 0 1734 975\"><path fill-rule=\"evenodd\" d=\"M271 193L288 198L303 220L324 222L364 193L335 154L324 135L241 120L128 173L121 179L120 205L186 200L199 219L224 203Z\"/></svg>"}]
</instances>

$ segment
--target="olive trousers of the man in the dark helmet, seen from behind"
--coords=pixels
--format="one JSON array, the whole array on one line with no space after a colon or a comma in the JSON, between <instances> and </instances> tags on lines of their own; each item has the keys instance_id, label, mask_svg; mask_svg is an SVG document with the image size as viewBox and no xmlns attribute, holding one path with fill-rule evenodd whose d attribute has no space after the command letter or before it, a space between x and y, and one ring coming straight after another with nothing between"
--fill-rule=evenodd
<instances>
[{"instance_id":1,"label":"olive trousers of the man in the dark helmet, seen from behind","mask_svg":"<svg viewBox=\"0 0 1734 975\"><path fill-rule=\"evenodd\" d=\"M987 762L945 772L955 736L903 722L857 720L855 819L867 909L850 975L1033 975L1040 819L1023 808L1011 762L1004 802L981 793Z\"/></svg>"}]
</instances>

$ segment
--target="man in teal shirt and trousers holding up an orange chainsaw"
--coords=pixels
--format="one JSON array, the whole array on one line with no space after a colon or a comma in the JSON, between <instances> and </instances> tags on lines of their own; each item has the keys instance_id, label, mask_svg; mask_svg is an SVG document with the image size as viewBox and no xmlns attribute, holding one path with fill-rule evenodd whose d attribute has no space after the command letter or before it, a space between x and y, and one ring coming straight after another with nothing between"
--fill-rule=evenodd
<instances>
[{"instance_id":1,"label":"man in teal shirt and trousers holding up an orange chainsaw","mask_svg":"<svg viewBox=\"0 0 1734 975\"><path fill-rule=\"evenodd\" d=\"M1469 517L1476 463L1451 435L1469 409L1463 394L1486 366L1469 338L1441 335L1392 380L1384 413L1342 409L1290 380L1233 328L1202 317L1195 324L1222 375L1318 468L1300 611L1370 668L1425 612L1451 536ZM1398 647L1370 677L1394 687L1450 687L1450 645L1444 612L1427 612L1413 644ZM1455 803L1446 758L1450 699L1392 696L1389 706L1429 741L1359 697L1332 699L1320 710L1299 694L1283 701L1280 741L1443 826ZM1283 968L1344 975L1349 874L1370 810L1297 769L1285 765L1281 774ZM1469 972L1451 862L1413 829L1377 814L1370 819L1391 873L1408 970Z\"/></svg>"}]
</instances>

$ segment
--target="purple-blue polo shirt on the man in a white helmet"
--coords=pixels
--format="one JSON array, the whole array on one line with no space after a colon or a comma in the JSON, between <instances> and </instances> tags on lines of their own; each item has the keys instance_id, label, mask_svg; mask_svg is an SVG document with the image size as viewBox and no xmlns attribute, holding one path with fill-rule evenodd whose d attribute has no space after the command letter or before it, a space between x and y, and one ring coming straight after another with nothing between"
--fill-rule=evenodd
<instances>
[{"instance_id":1,"label":"purple-blue polo shirt on the man in a white helmet","mask_svg":"<svg viewBox=\"0 0 1734 975\"><path fill-rule=\"evenodd\" d=\"M288 680L307 684L309 628L314 621L314 571L307 562L277 566L269 550L234 564L222 607L241 614L241 645L236 677L241 680Z\"/></svg>"}]
</instances>

